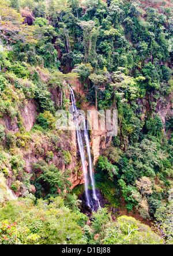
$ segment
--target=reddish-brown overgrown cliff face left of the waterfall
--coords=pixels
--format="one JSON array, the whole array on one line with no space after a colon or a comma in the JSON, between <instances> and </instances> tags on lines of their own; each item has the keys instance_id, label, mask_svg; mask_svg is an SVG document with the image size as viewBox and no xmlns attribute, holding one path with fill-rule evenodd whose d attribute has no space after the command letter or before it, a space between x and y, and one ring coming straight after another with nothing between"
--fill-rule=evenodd
<instances>
[{"instance_id":1,"label":"reddish-brown overgrown cliff face left of the waterfall","mask_svg":"<svg viewBox=\"0 0 173 256\"><path fill-rule=\"evenodd\" d=\"M65 90L66 97L70 99L70 93ZM51 91L52 101L55 103L61 102L61 95L56 90ZM5 127L6 134L13 134L17 147L13 149L12 155L20 155L21 161L24 161L24 172L28 175L33 175L32 164L37 164L39 161L46 161L48 164L54 164L59 170L64 172L69 170L69 181L72 183L72 189L78 184L84 183L84 175L78 156L76 131L53 131L47 135L31 129L36 123L37 105L33 99L28 99L25 105L20 109L22 125L25 127L25 133L20 133L20 125L17 117L13 119L9 116L0 119L0 125ZM27 134L28 132L28 134ZM69 153L70 159L67 159L66 154ZM51 154L51 157L49 157ZM6 177L7 187L11 187L13 179L13 170L11 169L10 161L12 155L9 154L9 164L1 166L1 168L9 168L9 175ZM23 172L23 171L22 171ZM17 178L21 180L20 175ZM30 188L31 193L35 192L34 185ZM24 190L17 190L16 196L25 196Z\"/></svg>"}]
</instances>

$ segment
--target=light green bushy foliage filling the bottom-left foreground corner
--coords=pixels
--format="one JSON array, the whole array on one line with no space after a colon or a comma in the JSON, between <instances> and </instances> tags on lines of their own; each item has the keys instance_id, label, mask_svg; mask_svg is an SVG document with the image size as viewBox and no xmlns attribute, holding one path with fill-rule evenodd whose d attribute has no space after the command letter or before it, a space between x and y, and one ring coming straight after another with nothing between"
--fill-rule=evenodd
<instances>
[{"instance_id":1,"label":"light green bushy foliage filling the bottom-left foreground corner","mask_svg":"<svg viewBox=\"0 0 173 256\"><path fill-rule=\"evenodd\" d=\"M28 198L8 202L0 209L0 220L6 222L0 222L0 244L79 244L83 215L72 212L60 197L39 199L36 205Z\"/></svg>"}]
</instances>

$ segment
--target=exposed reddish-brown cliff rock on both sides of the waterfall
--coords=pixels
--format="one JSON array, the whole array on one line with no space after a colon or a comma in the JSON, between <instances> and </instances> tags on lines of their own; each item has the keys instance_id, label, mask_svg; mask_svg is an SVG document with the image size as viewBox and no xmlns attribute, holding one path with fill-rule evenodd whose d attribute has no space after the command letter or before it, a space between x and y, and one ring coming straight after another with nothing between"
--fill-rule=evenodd
<instances>
[{"instance_id":1,"label":"exposed reddish-brown cliff rock on both sides of the waterfall","mask_svg":"<svg viewBox=\"0 0 173 256\"><path fill-rule=\"evenodd\" d=\"M85 99L86 92L79 81L73 81L73 90L77 97ZM57 91L55 88L52 88L50 92L52 101L54 101L55 104L61 105L61 91ZM70 101L69 90L65 89L63 94L65 98ZM171 96L170 98L168 97L166 101L167 104L160 99L156 105L155 111L163 121L165 132L166 117L173 116L173 103L171 102ZM138 104L141 106L141 119L145 119L147 113L151 111L151 102L149 102L148 98L138 99ZM93 110L96 112L95 106L90 105L85 101L81 101L80 109L84 110L85 113L87 110ZM28 99L28 101L25 102L24 107L20 109L20 113L25 131L30 132L33 125L36 123L36 116L38 114L36 102L33 99ZM84 184L84 175L78 151L76 131L54 131L50 135L33 131L31 136L22 136L19 132L20 125L18 125L17 117L12 120L9 116L1 118L0 125L5 127L6 134L11 132L16 136L17 143L20 144L20 146L16 149L17 151L14 150L13 154L22 156L22 159L25 162L24 170L26 173L33 173L32 163L46 161L48 164L54 164L57 166L59 170L62 170L62 172L65 172L65 170L70 171L70 177L68 179L72 183L72 189L78 184ZM110 146L112 138L108 136L107 129L102 130L100 128L100 123L97 129L94 129L92 125L92 130L89 131L89 135L91 139L93 165L95 165L101 152ZM65 155L63 155L64 151L70 153L70 161L66 161ZM49 158L48 154L50 153L52 156ZM6 180L6 184L9 187L13 183L12 173L13 172L9 171L9 177L7 177ZM35 191L35 187L32 185L30 192L33 193ZM22 191L18 190L16 195L22 196L22 193Z\"/></svg>"}]
</instances>

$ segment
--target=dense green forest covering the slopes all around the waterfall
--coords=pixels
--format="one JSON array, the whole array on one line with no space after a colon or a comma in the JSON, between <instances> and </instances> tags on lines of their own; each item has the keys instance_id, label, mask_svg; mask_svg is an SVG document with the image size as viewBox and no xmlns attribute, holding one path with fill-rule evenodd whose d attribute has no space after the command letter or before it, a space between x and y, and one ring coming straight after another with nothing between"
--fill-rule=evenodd
<instances>
[{"instance_id":1,"label":"dense green forest covering the slopes all around the waterfall","mask_svg":"<svg viewBox=\"0 0 173 256\"><path fill-rule=\"evenodd\" d=\"M173 243L172 9L160 0L0 0L0 244ZM70 193L70 174L80 175L80 163L69 170L72 133L55 129L74 78L85 94L77 106L118 110L118 135L95 166L107 207L91 225ZM112 221L112 207L156 221L155 232L132 217Z\"/></svg>"}]
</instances>

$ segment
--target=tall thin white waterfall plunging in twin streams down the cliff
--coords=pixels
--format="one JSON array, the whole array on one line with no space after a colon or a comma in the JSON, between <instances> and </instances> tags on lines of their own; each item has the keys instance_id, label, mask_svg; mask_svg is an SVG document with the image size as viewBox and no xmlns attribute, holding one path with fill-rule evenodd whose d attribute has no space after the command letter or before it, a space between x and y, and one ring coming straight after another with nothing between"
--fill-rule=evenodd
<instances>
[{"instance_id":1,"label":"tall thin white waterfall plunging in twin streams down the cliff","mask_svg":"<svg viewBox=\"0 0 173 256\"><path fill-rule=\"evenodd\" d=\"M74 118L74 121L76 122L77 142L78 142L78 147L81 155L82 168L84 171L86 203L93 211L95 211L94 205L96 202L99 209L101 209L101 206L100 206L99 199L97 198L97 195L96 195L95 180L93 178L92 157L91 157L91 150L90 150L90 144L89 144L89 135L88 135L88 131L85 124L85 118L77 110L74 91L71 87L70 87L70 95L72 99L73 118ZM92 198L91 198L91 195L89 195L89 190L88 190L89 179L88 179L88 173L87 173L86 164L85 164L86 158L85 158L84 143L82 140L82 130L80 129L80 123L78 120L79 116L82 118L82 128L84 130L83 133L84 133L84 138L86 143L86 151L88 154L89 178L91 180L91 185L92 185Z\"/></svg>"}]
</instances>

